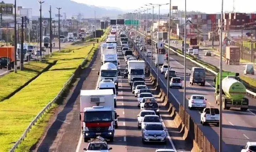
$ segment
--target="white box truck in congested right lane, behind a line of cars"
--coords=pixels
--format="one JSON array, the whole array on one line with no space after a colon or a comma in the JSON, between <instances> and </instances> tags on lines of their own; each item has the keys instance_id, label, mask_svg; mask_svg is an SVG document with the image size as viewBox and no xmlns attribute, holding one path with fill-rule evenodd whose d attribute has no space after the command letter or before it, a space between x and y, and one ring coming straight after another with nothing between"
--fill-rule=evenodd
<instances>
[{"instance_id":1,"label":"white box truck in congested right lane, behind a line of cars","mask_svg":"<svg viewBox=\"0 0 256 152\"><path fill-rule=\"evenodd\" d=\"M129 60L128 64L128 84L134 76L139 76L145 79L145 61Z\"/></svg>"}]
</instances>

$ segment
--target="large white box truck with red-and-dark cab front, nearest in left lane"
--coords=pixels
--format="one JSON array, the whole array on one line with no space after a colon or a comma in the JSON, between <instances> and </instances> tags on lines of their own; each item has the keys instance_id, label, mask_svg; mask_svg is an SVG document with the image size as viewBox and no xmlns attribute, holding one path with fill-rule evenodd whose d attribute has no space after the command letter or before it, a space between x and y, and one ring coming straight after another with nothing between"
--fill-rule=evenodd
<instances>
[{"instance_id":1,"label":"large white box truck with red-and-dark cab front, nearest in left lane","mask_svg":"<svg viewBox=\"0 0 256 152\"><path fill-rule=\"evenodd\" d=\"M84 142L97 136L112 142L115 127L113 90L81 90L79 120Z\"/></svg>"}]
</instances>

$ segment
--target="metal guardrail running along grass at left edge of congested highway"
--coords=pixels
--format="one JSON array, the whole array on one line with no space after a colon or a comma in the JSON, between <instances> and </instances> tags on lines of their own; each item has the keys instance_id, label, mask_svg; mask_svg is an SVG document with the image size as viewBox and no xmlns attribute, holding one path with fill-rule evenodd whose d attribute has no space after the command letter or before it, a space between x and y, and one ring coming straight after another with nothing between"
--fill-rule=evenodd
<instances>
[{"instance_id":1,"label":"metal guardrail running along grass at left edge of congested highway","mask_svg":"<svg viewBox=\"0 0 256 152\"><path fill-rule=\"evenodd\" d=\"M90 49L90 51L89 51L88 54L91 53L91 51L92 51L93 48L94 48L94 47L92 47L92 48ZM79 66L82 66L82 65L85 63L85 61L86 61L86 60L88 59L88 57L89 57L88 54L87 54L87 57L84 59L84 61L83 61ZM79 67L78 67L78 68L79 68ZM78 68L77 68L77 69L78 69ZM37 114L36 117L34 117L34 119L30 122L30 124L28 125L28 127L25 129L25 131L23 132L23 134L21 135L21 137L15 142L14 146L12 146L12 148L10 149L9 152L14 152L14 150L15 150L16 148L18 148L18 145L26 138L27 133L30 131L30 129L32 128L32 126L38 121L39 118L41 118L41 116L43 115L43 113L44 113L47 109L49 109L49 107L51 107L53 103L55 103L55 102L58 100L58 98L60 97L60 95L62 95L62 93L64 92L66 86L68 86L68 85L70 84L70 82L71 82L71 80L74 78L74 76L75 76L75 74L73 74L73 75L68 79L68 81L66 81L66 83L63 84L63 87L62 87L62 89L60 90L60 92L58 93L58 95L57 95L52 101L50 101L50 103L48 103L48 104L43 108L43 110L40 111L40 112Z\"/></svg>"}]
</instances>

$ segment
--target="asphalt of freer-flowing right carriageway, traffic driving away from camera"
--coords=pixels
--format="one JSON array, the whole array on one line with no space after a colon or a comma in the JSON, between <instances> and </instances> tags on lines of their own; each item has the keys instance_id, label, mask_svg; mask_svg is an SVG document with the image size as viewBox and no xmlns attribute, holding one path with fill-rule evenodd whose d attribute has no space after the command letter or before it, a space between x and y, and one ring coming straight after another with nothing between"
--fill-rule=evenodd
<instances>
[{"instance_id":1,"label":"asphalt of freer-flowing right carriageway, traffic driving away from camera","mask_svg":"<svg viewBox=\"0 0 256 152\"><path fill-rule=\"evenodd\" d=\"M151 48L151 47L150 47ZM155 52L155 51L153 51ZM170 51L170 65L173 70L177 72L177 76L180 76L182 80L184 80L184 64L183 58L174 55L172 51ZM142 52L140 52L142 53ZM142 55L142 54L141 54ZM150 57L147 58L148 66L150 65ZM153 55L153 75L156 77L156 71L159 70L159 83L162 88L166 89L167 80L165 79L164 75L160 72L160 67L157 69L154 65L155 55ZM190 62L187 62L186 72L189 73L190 69L194 65ZM213 84L213 76L210 74L206 75L207 83L206 86L202 87L199 85L190 86L189 84L189 76L186 75L186 98L189 98L193 94L200 94L204 95L207 99L207 106L215 106L215 89ZM184 81L183 81L184 86ZM170 89L169 92L172 97L170 96L171 102L178 107L179 104L183 105L183 89ZM249 97L247 97L249 98ZM219 143L219 127L214 125L209 126L202 126L200 124L200 115L201 113L197 110L189 110L187 107L188 101L186 100L186 110L193 117L194 121L197 125L201 128L204 135L207 136L208 140L212 142L215 148L218 149ZM256 102L255 100L249 98L249 109L248 111L242 112L239 110L223 110L223 151L230 152L230 151L240 151L240 146L245 145L247 141L256 141L256 122L252 121L256 118Z\"/></svg>"}]
</instances>

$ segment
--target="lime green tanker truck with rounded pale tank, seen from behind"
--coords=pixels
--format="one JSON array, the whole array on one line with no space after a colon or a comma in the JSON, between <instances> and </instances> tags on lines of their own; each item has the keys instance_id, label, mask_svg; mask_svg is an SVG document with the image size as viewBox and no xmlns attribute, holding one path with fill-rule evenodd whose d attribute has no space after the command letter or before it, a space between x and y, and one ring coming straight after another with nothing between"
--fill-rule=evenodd
<instances>
[{"instance_id":1,"label":"lime green tanker truck with rounded pale tank, seen from behind","mask_svg":"<svg viewBox=\"0 0 256 152\"><path fill-rule=\"evenodd\" d=\"M229 110L230 107L240 108L246 111L249 106L249 100L245 98L246 88L239 80L239 73L222 72L222 99L219 98L219 73L215 78L215 102L219 105L222 101L222 108Z\"/></svg>"}]
</instances>

